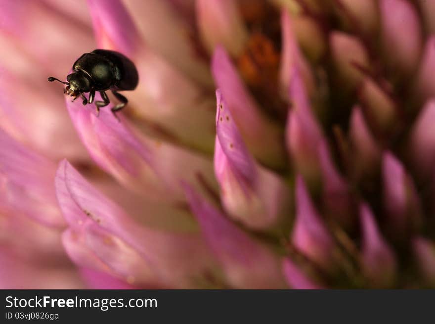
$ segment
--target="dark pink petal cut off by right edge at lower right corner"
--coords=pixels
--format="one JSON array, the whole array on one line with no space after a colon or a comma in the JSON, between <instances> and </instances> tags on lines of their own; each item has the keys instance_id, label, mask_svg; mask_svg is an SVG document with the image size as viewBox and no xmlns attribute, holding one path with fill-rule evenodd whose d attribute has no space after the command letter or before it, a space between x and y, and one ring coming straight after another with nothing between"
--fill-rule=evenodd
<instances>
[{"instance_id":1,"label":"dark pink petal cut off by right edge at lower right corner","mask_svg":"<svg viewBox=\"0 0 435 324\"><path fill-rule=\"evenodd\" d=\"M412 245L422 275L428 284L435 286L435 243L424 237L416 237Z\"/></svg>"}]
</instances>

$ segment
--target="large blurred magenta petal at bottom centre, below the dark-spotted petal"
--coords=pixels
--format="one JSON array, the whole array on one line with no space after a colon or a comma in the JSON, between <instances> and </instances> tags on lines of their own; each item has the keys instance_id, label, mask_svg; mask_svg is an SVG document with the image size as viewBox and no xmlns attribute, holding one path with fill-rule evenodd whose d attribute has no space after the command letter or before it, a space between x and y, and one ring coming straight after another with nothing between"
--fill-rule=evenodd
<instances>
[{"instance_id":1,"label":"large blurred magenta petal at bottom centre, below the dark-spotted petal","mask_svg":"<svg viewBox=\"0 0 435 324\"><path fill-rule=\"evenodd\" d=\"M190 186L186 185L185 190L190 208L231 286L245 289L285 286L277 255L228 221Z\"/></svg>"}]
</instances>

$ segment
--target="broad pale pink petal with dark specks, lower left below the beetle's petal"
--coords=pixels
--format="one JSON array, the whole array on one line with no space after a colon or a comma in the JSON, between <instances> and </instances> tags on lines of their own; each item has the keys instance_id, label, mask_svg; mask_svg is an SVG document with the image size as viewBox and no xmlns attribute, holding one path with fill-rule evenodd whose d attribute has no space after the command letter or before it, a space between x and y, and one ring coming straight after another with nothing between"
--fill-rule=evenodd
<instances>
[{"instance_id":1,"label":"broad pale pink petal with dark specks, lower left below the beetle's petal","mask_svg":"<svg viewBox=\"0 0 435 324\"><path fill-rule=\"evenodd\" d=\"M80 266L106 270L135 285L207 283L213 263L198 235L138 225L66 161L59 165L56 192L70 225L64 244Z\"/></svg>"}]
</instances>

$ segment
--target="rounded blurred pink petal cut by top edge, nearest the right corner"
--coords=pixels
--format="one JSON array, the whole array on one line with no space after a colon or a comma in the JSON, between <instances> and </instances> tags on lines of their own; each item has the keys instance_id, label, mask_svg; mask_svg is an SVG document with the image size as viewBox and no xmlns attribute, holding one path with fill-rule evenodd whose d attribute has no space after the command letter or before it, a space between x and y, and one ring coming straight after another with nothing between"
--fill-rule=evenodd
<instances>
[{"instance_id":1,"label":"rounded blurred pink petal cut by top edge, nearest the right corner","mask_svg":"<svg viewBox=\"0 0 435 324\"><path fill-rule=\"evenodd\" d=\"M406 0L381 0L382 41L392 69L412 72L420 58L421 26L416 8ZM406 26L406 28L404 28Z\"/></svg>"}]
</instances>

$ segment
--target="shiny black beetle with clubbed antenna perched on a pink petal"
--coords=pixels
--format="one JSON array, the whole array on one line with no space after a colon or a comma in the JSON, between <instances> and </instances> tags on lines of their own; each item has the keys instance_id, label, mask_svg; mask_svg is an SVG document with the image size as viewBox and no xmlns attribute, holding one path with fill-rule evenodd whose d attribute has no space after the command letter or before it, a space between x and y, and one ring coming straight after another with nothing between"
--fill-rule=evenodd
<instances>
[{"instance_id":1,"label":"shiny black beetle with clubbed antenna perched on a pink petal","mask_svg":"<svg viewBox=\"0 0 435 324\"><path fill-rule=\"evenodd\" d=\"M127 98L118 91L134 90L139 81L134 63L125 55L107 49L95 49L83 54L73 64L73 71L66 77L68 82L54 77L49 77L48 81L57 80L66 84L63 92L74 97L73 101L82 96L84 105L92 103L95 92L98 91L104 101L95 101L97 114L100 112L100 107L107 106L110 102L106 90L111 90L121 101L111 109L115 114L128 102ZM83 93L89 93L89 98L87 99Z\"/></svg>"}]
</instances>

